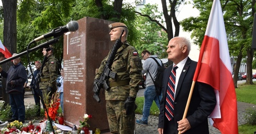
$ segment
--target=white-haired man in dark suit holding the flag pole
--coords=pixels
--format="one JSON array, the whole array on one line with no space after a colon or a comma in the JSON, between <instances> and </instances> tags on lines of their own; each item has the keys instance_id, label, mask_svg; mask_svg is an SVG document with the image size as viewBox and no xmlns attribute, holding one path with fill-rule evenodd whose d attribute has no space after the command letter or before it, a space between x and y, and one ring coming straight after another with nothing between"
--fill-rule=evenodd
<instances>
[{"instance_id":1,"label":"white-haired man in dark suit holding the flag pole","mask_svg":"<svg viewBox=\"0 0 256 134\"><path fill-rule=\"evenodd\" d=\"M216 104L214 89L204 83L195 83L189 110L185 119L182 119L187 104L190 88L193 81L197 62L192 61L188 55L191 44L184 37L174 37L167 46L168 60L173 61L164 73L162 100L160 103L160 114L158 132L159 134L171 133L209 133L207 117L212 113ZM167 116L167 88L168 79L173 66L176 69L176 82L174 90L173 117ZM169 93L170 94L170 93ZM170 101L169 101L170 103Z\"/></svg>"}]
</instances>

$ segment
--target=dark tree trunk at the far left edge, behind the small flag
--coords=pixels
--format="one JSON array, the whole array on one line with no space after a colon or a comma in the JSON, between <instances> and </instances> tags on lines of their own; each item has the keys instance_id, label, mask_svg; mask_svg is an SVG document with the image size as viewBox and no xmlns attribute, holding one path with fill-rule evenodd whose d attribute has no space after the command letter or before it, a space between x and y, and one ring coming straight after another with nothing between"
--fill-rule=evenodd
<instances>
[{"instance_id":1,"label":"dark tree trunk at the far left edge, behind the small flag","mask_svg":"<svg viewBox=\"0 0 256 134\"><path fill-rule=\"evenodd\" d=\"M10 51L15 53L17 51L17 0L2 0L4 9L4 46ZM3 64L3 70L8 71L9 67L13 65L11 62ZM3 100L9 103L9 95L5 92L6 78L2 79L3 82ZM7 103L6 103L7 104Z\"/></svg>"}]
</instances>

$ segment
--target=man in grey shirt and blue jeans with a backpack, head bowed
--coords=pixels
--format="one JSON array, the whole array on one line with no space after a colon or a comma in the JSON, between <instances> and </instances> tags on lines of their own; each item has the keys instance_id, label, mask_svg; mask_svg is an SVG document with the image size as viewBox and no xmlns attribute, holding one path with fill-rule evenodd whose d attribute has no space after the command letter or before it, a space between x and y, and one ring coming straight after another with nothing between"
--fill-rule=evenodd
<instances>
[{"instance_id":1,"label":"man in grey shirt and blue jeans with a backpack, head bowed","mask_svg":"<svg viewBox=\"0 0 256 134\"><path fill-rule=\"evenodd\" d=\"M149 116L150 107L152 106L153 101L156 102L158 109L160 109L160 100L162 99L161 95L160 96L157 95L156 87L153 82L156 79L158 64L152 58L155 58L160 65L162 64L162 62L160 59L157 58L157 56L152 56L148 50L143 50L141 55L142 55L142 59L145 60L142 66L143 67L142 73L143 74L146 73L147 77L146 77L146 90L144 91L145 100L143 105L143 116L142 116L142 119L137 119L136 123L141 125L148 125L148 116ZM153 79L150 76L152 76Z\"/></svg>"}]
</instances>

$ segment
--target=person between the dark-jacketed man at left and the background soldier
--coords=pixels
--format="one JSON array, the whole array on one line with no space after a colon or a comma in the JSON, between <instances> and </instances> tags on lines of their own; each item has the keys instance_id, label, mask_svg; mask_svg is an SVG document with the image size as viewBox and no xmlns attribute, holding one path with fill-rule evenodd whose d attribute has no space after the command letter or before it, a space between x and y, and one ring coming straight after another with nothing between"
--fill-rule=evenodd
<instances>
[{"instance_id":1,"label":"person between the dark-jacketed man at left and the background soldier","mask_svg":"<svg viewBox=\"0 0 256 134\"><path fill-rule=\"evenodd\" d=\"M41 114L41 105L40 105L40 96L43 95L42 90L40 90L39 88L37 88L37 82L38 82L38 74L40 73L40 69L41 69L41 61L36 61L34 62L34 65L36 66L36 71L33 72L33 78L31 80L31 83L29 85L29 88L32 90L33 96L34 96L34 103L36 103L37 105L37 111L36 111L36 116L40 116ZM34 80L36 82L34 82Z\"/></svg>"}]
</instances>

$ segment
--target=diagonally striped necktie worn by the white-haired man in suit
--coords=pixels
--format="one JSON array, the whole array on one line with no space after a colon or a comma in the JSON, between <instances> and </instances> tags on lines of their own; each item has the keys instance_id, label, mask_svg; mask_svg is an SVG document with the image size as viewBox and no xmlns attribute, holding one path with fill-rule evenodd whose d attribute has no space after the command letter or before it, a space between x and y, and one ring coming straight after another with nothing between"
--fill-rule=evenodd
<instances>
[{"instance_id":1,"label":"diagonally striped necktie worn by the white-haired man in suit","mask_svg":"<svg viewBox=\"0 0 256 134\"><path fill-rule=\"evenodd\" d=\"M171 74L168 79L167 86L167 96L166 96L166 105L165 105L165 116L170 121L174 116L174 92L175 92L175 79L176 79L176 69L177 65L174 65L171 71Z\"/></svg>"}]
</instances>

